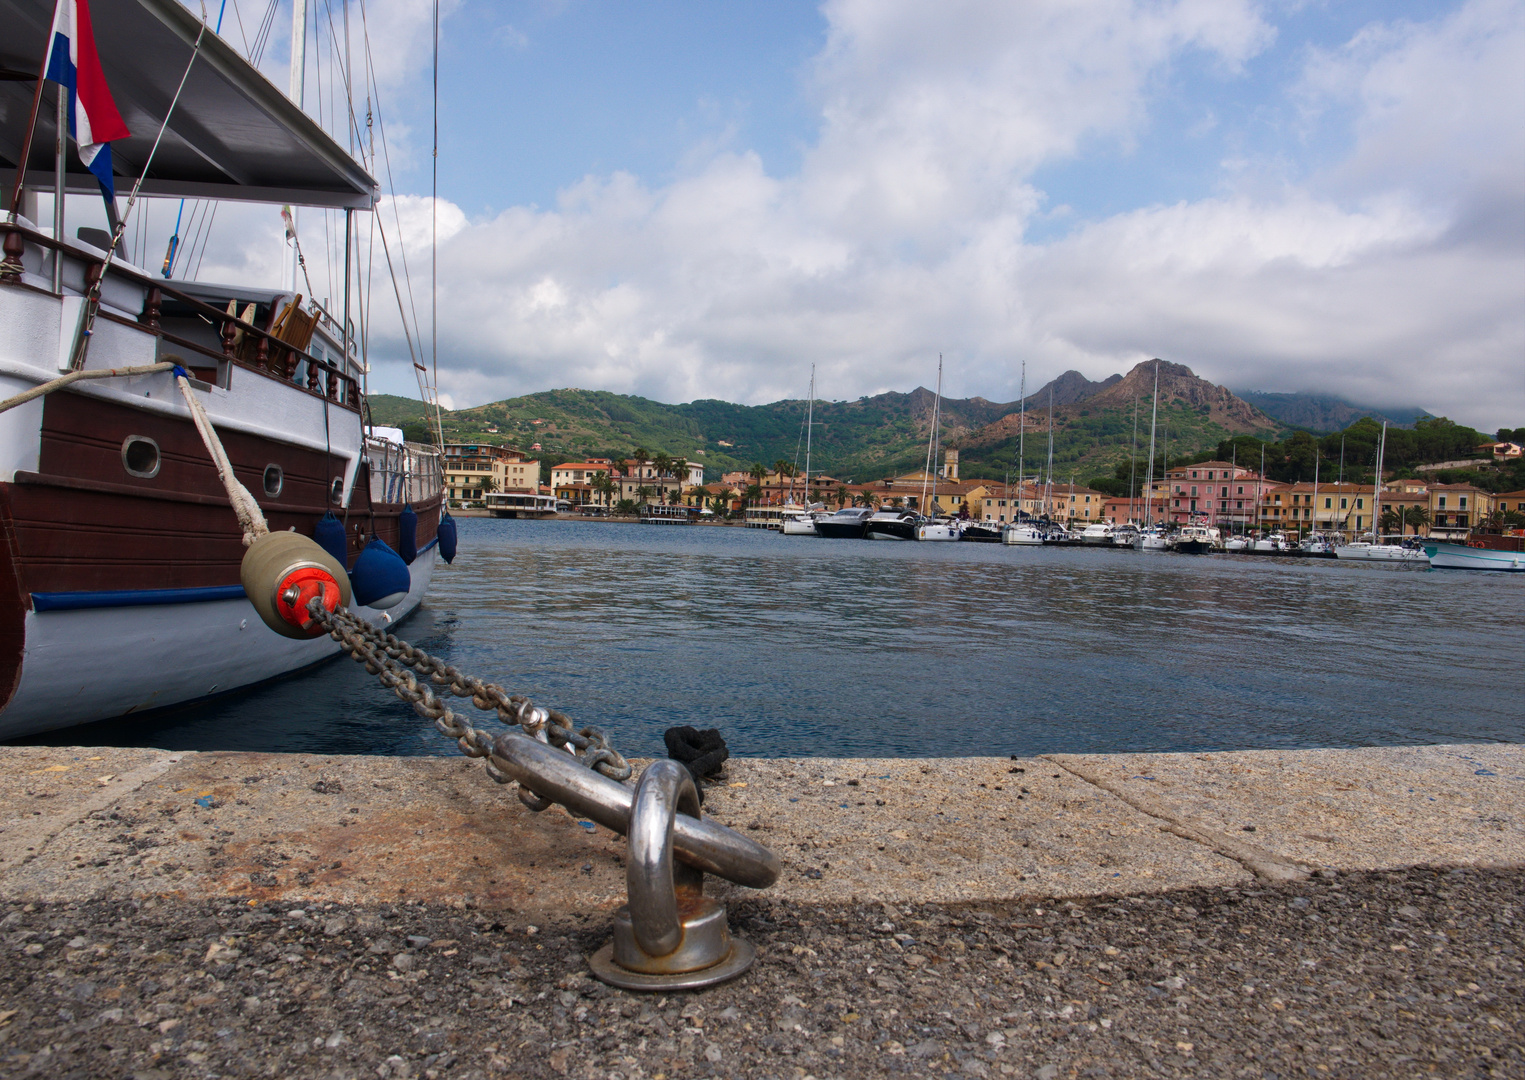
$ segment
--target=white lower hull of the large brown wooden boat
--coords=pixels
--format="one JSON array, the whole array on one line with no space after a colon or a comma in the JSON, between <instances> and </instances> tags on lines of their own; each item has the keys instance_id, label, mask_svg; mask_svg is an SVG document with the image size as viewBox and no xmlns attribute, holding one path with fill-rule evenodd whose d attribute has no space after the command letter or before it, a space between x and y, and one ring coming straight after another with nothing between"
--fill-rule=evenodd
<instances>
[{"instance_id":1,"label":"white lower hull of the large brown wooden boat","mask_svg":"<svg viewBox=\"0 0 1525 1080\"><path fill-rule=\"evenodd\" d=\"M386 613L351 610L372 625L410 615L429 590L438 551L430 546L413 560L412 587L401 604ZM244 598L27 612L21 680L0 714L0 738L181 705L337 654L332 638L282 638Z\"/></svg>"}]
</instances>

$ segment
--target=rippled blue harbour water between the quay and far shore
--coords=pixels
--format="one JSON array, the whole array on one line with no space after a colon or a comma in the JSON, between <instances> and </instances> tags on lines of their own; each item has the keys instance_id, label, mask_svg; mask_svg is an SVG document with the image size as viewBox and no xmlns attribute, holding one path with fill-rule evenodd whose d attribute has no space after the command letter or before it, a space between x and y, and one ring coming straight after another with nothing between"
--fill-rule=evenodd
<instances>
[{"instance_id":1,"label":"rippled blue harbour water between the quay and far shore","mask_svg":"<svg viewBox=\"0 0 1525 1080\"><path fill-rule=\"evenodd\" d=\"M1382 746L1525 737L1522 599L1324 560L464 519L401 633L628 754L673 725L740 755ZM349 661L46 741L453 752Z\"/></svg>"}]
</instances>

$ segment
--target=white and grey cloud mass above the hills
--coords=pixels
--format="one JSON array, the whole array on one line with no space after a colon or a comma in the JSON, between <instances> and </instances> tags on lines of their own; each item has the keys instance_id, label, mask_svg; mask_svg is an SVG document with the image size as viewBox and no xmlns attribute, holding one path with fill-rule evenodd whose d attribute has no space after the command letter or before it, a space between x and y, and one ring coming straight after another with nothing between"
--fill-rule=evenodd
<instances>
[{"instance_id":1,"label":"white and grey cloud mass above the hills","mask_svg":"<svg viewBox=\"0 0 1525 1080\"><path fill-rule=\"evenodd\" d=\"M552 386L766 401L798 395L813 362L824 394L856 397L930 381L938 352L955 394L1010 398L1022 358L1045 378L1162 355L1234 386L1525 421L1519 5L1371 26L1267 85L1312 128L1344 130L1322 171L1241 157L1218 195L1043 244L1028 227L1064 192L1039 191L1035 169L1096 140L1125 151L1190 52L1252 78L1276 34L1258 6L824 11L820 136L798 174L715 145L662 186L615 172L549 209L441 206L453 401ZM1222 122L1212 102L1193 114ZM396 212L422 305L429 200ZM381 288L375 348L401 360ZM393 389L412 383L395 371Z\"/></svg>"}]
</instances>

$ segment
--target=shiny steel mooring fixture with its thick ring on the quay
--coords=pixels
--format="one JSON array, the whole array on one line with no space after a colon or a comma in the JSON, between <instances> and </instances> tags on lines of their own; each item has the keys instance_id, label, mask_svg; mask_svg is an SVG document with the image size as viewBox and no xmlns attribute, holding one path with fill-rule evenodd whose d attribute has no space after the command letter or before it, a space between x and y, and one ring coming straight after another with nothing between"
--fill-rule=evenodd
<instances>
[{"instance_id":1,"label":"shiny steel mooring fixture with its thick ring on the quay","mask_svg":"<svg viewBox=\"0 0 1525 1080\"><path fill-rule=\"evenodd\" d=\"M692 990L752 966L756 950L730 937L724 905L705 895L705 873L767 888L778 856L702 819L688 769L653 761L631 793L517 732L499 735L490 760L528 789L526 805L560 802L628 837L628 903L615 914L613 940L589 958L595 976L627 990Z\"/></svg>"}]
</instances>

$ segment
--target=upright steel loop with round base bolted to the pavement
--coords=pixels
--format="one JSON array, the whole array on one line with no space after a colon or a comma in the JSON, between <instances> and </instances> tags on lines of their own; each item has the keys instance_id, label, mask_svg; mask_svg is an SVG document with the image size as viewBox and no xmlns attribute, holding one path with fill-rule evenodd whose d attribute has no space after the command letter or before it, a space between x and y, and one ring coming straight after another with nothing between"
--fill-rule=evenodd
<instances>
[{"instance_id":1,"label":"upright steel loop with round base bolted to the pavement","mask_svg":"<svg viewBox=\"0 0 1525 1080\"><path fill-rule=\"evenodd\" d=\"M698 819L688 769L653 761L630 805L625 888L613 940L589 958L604 982L627 990L692 990L741 975L756 950L730 937L726 908L705 895L705 874L673 857L679 813Z\"/></svg>"}]
</instances>

